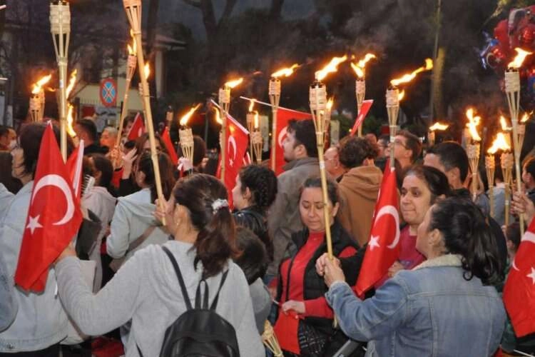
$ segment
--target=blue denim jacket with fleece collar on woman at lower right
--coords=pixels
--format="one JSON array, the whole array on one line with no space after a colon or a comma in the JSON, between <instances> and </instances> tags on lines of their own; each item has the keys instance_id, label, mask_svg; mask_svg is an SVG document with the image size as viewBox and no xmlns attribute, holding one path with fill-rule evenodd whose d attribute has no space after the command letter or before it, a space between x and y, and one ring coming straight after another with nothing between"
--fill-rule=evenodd
<instances>
[{"instance_id":1,"label":"blue denim jacket with fleece collar on woman at lower right","mask_svg":"<svg viewBox=\"0 0 535 357\"><path fill-rule=\"evenodd\" d=\"M325 296L342 331L370 341L366 356L491 356L504 331L496 289L464 280L452 254L400 271L365 301L342 281Z\"/></svg>"}]
</instances>

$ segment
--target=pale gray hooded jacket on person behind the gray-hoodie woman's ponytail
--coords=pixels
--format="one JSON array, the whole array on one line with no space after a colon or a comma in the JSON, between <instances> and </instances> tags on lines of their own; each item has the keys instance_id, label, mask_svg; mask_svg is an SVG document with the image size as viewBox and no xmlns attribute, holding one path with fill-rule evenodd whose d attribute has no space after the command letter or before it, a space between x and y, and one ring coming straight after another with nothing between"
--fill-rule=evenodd
<instances>
[{"instance_id":1,"label":"pale gray hooded jacket on person behind the gray-hoodie woman's ponytail","mask_svg":"<svg viewBox=\"0 0 535 357\"><path fill-rule=\"evenodd\" d=\"M111 220L111 233L106 239L106 249L112 258L130 258L134 251L149 244L163 244L168 241L168 234L160 228L154 231L134 251L128 246L136 241L150 226L158 226L153 216L156 206L151 203L151 189L143 188L126 197L118 198L115 213Z\"/></svg>"}]
</instances>

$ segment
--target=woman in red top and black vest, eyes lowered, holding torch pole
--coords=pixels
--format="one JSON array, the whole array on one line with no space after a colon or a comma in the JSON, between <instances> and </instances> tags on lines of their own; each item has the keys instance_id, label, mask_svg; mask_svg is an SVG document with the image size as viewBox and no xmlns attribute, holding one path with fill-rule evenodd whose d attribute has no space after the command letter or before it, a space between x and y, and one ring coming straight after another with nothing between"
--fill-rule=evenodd
<instances>
[{"instance_id":1,"label":"woman in red top and black vest, eyes lowered, holding torch pole","mask_svg":"<svg viewBox=\"0 0 535 357\"><path fill-rule=\"evenodd\" d=\"M342 258L342 268L349 274L347 283L353 285L364 251L357 253L355 241L335 221L339 207L335 183L327 181L327 191L332 251ZM334 342L339 341L332 328L332 309L324 297L327 286L315 271L315 261L327 252L323 207L320 178L308 178L299 201L301 220L306 228L292 234L279 268L277 300L280 311L275 332L285 356L327 356L327 351L334 348L332 345L338 344Z\"/></svg>"}]
</instances>

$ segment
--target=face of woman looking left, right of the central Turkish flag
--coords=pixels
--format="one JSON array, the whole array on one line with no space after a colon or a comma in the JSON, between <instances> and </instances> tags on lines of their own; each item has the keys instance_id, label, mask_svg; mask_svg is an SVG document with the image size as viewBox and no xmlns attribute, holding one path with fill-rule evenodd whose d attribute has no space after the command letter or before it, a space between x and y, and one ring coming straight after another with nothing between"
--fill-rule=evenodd
<instances>
[{"instance_id":1,"label":"face of woman looking left, right of the central Turkish flag","mask_svg":"<svg viewBox=\"0 0 535 357\"><path fill-rule=\"evenodd\" d=\"M401 213L405 222L417 226L431 206L431 191L427 184L414 175L405 176L401 190Z\"/></svg>"}]
</instances>

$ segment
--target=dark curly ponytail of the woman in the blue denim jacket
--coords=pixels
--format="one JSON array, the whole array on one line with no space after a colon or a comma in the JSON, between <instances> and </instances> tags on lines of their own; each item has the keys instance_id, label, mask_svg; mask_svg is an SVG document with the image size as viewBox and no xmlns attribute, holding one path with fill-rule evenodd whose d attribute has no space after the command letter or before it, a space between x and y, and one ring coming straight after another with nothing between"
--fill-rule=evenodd
<instances>
[{"instance_id":1,"label":"dark curly ponytail of the woman in the blue denim jacket","mask_svg":"<svg viewBox=\"0 0 535 357\"><path fill-rule=\"evenodd\" d=\"M481 209L472 201L450 197L435 203L429 231L435 228L442 233L445 253L462 256L466 280L477 276L484 285L503 281L504 267L501 266L496 237Z\"/></svg>"}]
</instances>

